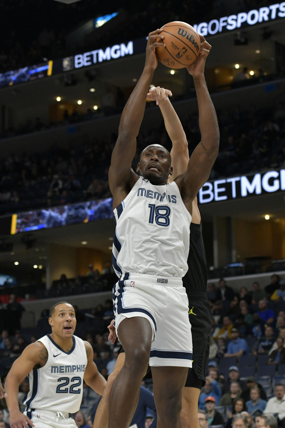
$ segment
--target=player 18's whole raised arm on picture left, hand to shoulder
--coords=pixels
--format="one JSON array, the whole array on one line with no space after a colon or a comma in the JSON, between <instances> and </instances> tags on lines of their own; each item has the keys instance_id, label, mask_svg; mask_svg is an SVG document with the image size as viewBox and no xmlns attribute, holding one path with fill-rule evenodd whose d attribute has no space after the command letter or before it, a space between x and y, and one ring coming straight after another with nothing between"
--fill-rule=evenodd
<instances>
[{"instance_id":1,"label":"player 18's whole raised arm on picture left, hand to shoulder","mask_svg":"<svg viewBox=\"0 0 285 428\"><path fill-rule=\"evenodd\" d=\"M158 64L155 49L157 46L161 46L161 42L155 41L156 39L163 39L163 36L160 36L161 32L162 30L156 30L148 36L144 70L123 109L120 119L118 140L112 153L109 168L109 187L114 197L114 206L122 202L130 187L138 179L138 176L131 171L131 165L135 156L136 137L144 116L147 92Z\"/></svg>"}]
</instances>

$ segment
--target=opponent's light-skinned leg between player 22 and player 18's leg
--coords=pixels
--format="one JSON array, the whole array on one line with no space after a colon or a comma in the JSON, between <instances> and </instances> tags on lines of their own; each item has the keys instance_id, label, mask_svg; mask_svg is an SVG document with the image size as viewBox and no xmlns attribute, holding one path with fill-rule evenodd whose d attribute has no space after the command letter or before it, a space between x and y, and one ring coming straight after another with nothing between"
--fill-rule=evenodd
<instances>
[{"instance_id":1,"label":"opponent's light-skinned leg between player 22 and player 18's leg","mask_svg":"<svg viewBox=\"0 0 285 428\"><path fill-rule=\"evenodd\" d=\"M120 370L122 369L125 362L125 353L122 352L118 355L115 367L113 372L108 376L107 384L104 389L102 398L100 400L100 403L97 407L95 418L94 418L94 424L93 428L108 428L108 421L109 421L109 413L108 413L108 406L109 406L109 396L111 392L112 385L120 373Z\"/></svg>"}]
</instances>

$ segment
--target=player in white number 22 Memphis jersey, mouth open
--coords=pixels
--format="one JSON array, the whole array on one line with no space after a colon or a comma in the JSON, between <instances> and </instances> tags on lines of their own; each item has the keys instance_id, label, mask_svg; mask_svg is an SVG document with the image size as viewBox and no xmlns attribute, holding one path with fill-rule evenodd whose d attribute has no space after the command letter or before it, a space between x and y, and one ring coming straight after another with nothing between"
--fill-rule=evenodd
<instances>
[{"instance_id":1,"label":"player in white number 22 Memphis jersey, mouth open","mask_svg":"<svg viewBox=\"0 0 285 428\"><path fill-rule=\"evenodd\" d=\"M83 380L102 395L106 380L93 361L88 342L74 336L76 318L70 303L50 308L51 334L28 345L9 371L5 389L11 428L75 428L68 413L79 410ZM24 398L24 414L19 410L18 389L29 375L30 390Z\"/></svg>"}]
</instances>

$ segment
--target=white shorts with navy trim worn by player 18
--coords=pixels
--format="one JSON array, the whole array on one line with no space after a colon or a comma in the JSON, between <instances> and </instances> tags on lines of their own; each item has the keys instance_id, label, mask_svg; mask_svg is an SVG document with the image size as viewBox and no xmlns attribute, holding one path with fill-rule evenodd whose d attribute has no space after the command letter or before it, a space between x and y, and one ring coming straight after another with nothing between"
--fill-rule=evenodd
<instances>
[{"instance_id":1,"label":"white shorts with navy trim worn by player 18","mask_svg":"<svg viewBox=\"0 0 285 428\"><path fill-rule=\"evenodd\" d=\"M188 297L181 278L125 273L113 288L115 329L124 318L147 318L150 366L192 367Z\"/></svg>"}]
</instances>

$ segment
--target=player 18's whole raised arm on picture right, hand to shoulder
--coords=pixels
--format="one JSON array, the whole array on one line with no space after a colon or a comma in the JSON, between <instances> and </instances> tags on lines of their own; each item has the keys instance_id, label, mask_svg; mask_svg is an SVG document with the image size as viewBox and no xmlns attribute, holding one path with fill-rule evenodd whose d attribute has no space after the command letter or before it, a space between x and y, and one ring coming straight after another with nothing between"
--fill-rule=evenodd
<instances>
[{"instance_id":1,"label":"player 18's whole raised arm on picture right, hand to shoulder","mask_svg":"<svg viewBox=\"0 0 285 428\"><path fill-rule=\"evenodd\" d=\"M220 141L217 115L204 76L205 61L211 45L203 36L200 36L200 39L202 42L200 55L192 65L187 67L194 79L201 132L201 141L191 155L182 184L183 193L187 194L191 200L197 196L198 191L209 178L217 158Z\"/></svg>"}]
</instances>

